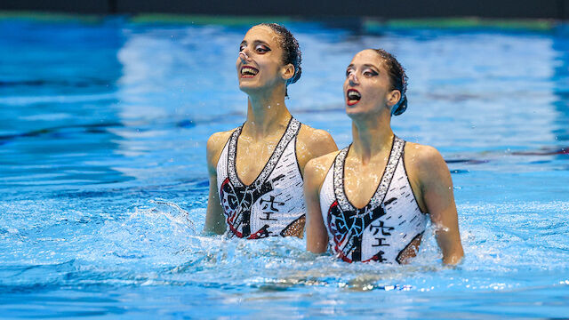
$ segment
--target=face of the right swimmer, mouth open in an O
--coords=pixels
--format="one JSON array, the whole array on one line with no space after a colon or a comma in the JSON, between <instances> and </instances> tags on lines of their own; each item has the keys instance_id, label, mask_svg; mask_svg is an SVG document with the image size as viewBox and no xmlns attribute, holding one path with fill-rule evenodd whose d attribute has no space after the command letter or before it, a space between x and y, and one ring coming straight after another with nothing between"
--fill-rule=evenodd
<instances>
[{"instance_id":1,"label":"face of the right swimmer, mouth open in an O","mask_svg":"<svg viewBox=\"0 0 569 320\"><path fill-rule=\"evenodd\" d=\"M391 87L381 56L373 50L358 52L346 69L346 113L351 117L389 112L401 96L401 92Z\"/></svg>"}]
</instances>

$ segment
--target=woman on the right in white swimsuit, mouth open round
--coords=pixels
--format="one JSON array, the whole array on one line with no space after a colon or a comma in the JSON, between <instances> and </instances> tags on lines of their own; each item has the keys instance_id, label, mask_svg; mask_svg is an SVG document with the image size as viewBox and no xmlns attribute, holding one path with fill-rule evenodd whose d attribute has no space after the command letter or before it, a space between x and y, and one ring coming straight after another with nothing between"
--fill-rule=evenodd
<instances>
[{"instance_id":1,"label":"woman on the right in white swimsuit, mouth open round","mask_svg":"<svg viewBox=\"0 0 569 320\"><path fill-rule=\"evenodd\" d=\"M344 97L352 119L347 148L307 164L307 249L330 246L342 260L405 263L421 244L427 213L443 262L463 252L453 181L435 148L405 142L391 116L407 108L405 70L389 52L358 52L346 70Z\"/></svg>"}]
</instances>

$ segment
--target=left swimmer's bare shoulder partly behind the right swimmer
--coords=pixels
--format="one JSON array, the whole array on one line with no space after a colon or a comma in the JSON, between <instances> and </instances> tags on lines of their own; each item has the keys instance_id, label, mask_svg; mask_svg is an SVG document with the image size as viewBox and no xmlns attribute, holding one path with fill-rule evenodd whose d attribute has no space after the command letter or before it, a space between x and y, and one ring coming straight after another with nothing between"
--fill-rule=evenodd
<instances>
[{"instance_id":1,"label":"left swimmer's bare shoulder partly behind the right swimmer","mask_svg":"<svg viewBox=\"0 0 569 320\"><path fill-rule=\"evenodd\" d=\"M302 124L298 135L297 151L305 154L306 162L317 156L324 156L337 150L330 132L315 129L307 124Z\"/></svg>"}]
</instances>

